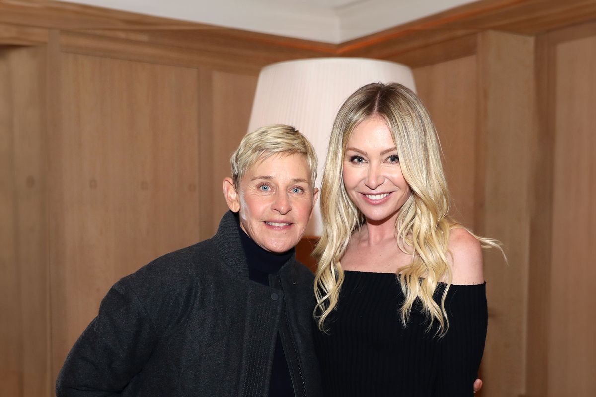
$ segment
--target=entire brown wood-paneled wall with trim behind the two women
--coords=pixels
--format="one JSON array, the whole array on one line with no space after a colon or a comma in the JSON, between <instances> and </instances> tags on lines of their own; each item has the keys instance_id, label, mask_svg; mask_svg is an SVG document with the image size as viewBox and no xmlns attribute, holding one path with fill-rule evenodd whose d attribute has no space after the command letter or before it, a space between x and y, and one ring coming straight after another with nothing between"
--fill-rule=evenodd
<instances>
[{"instance_id":1,"label":"entire brown wood-paneled wall with trim behind the two women","mask_svg":"<svg viewBox=\"0 0 596 397\"><path fill-rule=\"evenodd\" d=\"M481 395L594 395L595 15L594 0L485 0L327 45L0 2L0 43L46 45L0 49L0 395L52 395L111 283L215 232L257 71L321 55L416 68L461 218L505 243L509 265L485 258ZM581 21L540 48L521 36Z\"/></svg>"}]
</instances>

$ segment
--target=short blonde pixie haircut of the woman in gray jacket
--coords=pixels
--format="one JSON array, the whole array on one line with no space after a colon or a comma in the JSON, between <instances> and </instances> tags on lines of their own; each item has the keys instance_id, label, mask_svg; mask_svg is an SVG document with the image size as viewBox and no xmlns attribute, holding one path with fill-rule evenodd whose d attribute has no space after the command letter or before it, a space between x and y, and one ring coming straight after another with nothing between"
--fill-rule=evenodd
<instances>
[{"instance_id":1,"label":"short blonde pixie haircut of the woman in gray jacket","mask_svg":"<svg viewBox=\"0 0 596 397\"><path fill-rule=\"evenodd\" d=\"M238 149L229 159L232 181L238 189L240 180L257 161L276 154L302 154L311 170L311 186L316 181L316 152L311 142L299 130L286 124L270 124L244 136Z\"/></svg>"}]
</instances>

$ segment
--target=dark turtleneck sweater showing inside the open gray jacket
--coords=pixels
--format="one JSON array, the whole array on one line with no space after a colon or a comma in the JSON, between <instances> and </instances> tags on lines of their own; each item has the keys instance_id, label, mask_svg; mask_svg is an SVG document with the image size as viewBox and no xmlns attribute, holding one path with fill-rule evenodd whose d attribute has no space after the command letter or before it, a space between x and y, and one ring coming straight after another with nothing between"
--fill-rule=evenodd
<instances>
[{"instance_id":1,"label":"dark turtleneck sweater showing inside the open gray jacket","mask_svg":"<svg viewBox=\"0 0 596 397\"><path fill-rule=\"evenodd\" d=\"M266 251L254 242L244 230L240 232L240 240L246 254L246 262L249 265L249 279L266 286L269 286L269 274L277 273L294 253L293 248L282 254ZM281 345L278 333L275 342L271 382L269 382L269 397L293 395L294 388L290 378L290 370L288 370L288 364L285 361L284 348Z\"/></svg>"}]
</instances>

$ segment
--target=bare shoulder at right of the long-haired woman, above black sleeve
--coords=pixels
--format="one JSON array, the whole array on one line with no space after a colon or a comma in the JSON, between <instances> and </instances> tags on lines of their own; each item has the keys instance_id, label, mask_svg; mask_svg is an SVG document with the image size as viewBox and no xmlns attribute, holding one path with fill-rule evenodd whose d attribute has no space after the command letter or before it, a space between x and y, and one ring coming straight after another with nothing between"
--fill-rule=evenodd
<instances>
[{"instance_id":1,"label":"bare shoulder at right of the long-haired woman, above black sleeve","mask_svg":"<svg viewBox=\"0 0 596 397\"><path fill-rule=\"evenodd\" d=\"M474 285L484 282L482 247L476 237L462 228L451 229L449 252L453 284Z\"/></svg>"}]
</instances>

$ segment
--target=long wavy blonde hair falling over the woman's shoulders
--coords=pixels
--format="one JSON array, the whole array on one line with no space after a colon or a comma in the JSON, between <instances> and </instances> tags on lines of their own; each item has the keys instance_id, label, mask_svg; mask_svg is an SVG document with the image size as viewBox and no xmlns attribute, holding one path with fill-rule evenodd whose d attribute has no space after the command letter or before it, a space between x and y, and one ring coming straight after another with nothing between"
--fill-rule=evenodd
<instances>
[{"instance_id":1,"label":"long wavy blonde hair falling over the woman's shoulders","mask_svg":"<svg viewBox=\"0 0 596 397\"><path fill-rule=\"evenodd\" d=\"M449 190L430 116L420 99L397 83L359 88L346 99L333 123L321 185L325 227L314 251L318 259L314 311L318 327L326 330L325 319L337 305L344 280L340 259L352 233L365 222L347 195L342 174L347 142L355 127L368 117L381 117L387 123L398 149L403 177L412 191L395 224L396 244L403 252L412 254L412 262L397 273L405 296L400 309L402 323L408 323L412 307L420 301L430 319L429 330L437 321L437 335L444 335L449 327L445 298L452 280L447 258L449 233L463 226L449 217ZM496 240L475 237L485 247L498 247ZM445 282L446 287L437 304L433 295L439 282Z\"/></svg>"}]
</instances>

